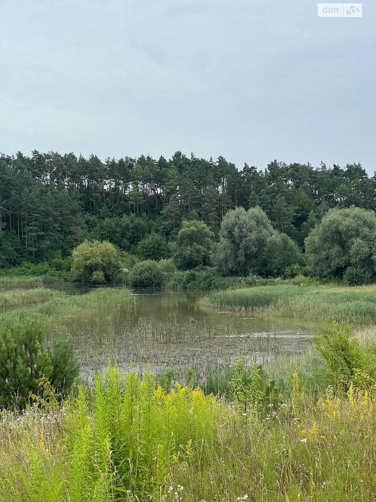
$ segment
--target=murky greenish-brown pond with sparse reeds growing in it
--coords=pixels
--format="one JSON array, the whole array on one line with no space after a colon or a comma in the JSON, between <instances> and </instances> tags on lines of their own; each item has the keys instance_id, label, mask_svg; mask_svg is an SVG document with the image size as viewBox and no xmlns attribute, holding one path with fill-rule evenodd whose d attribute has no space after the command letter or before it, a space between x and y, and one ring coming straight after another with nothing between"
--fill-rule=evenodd
<instances>
[{"instance_id":1,"label":"murky greenish-brown pond with sparse reeds growing in it","mask_svg":"<svg viewBox=\"0 0 376 502\"><path fill-rule=\"evenodd\" d=\"M81 294L89 289L64 288ZM302 351L319 326L312 321L208 310L200 306L204 294L199 293L132 292L136 296L132 307L104 306L64 320L85 379L92 380L109 360L123 369L132 361L140 371L149 363L156 373L173 367L176 374L193 367L199 374L208 366L223 367L240 352L248 363L263 362L277 353Z\"/></svg>"}]
</instances>

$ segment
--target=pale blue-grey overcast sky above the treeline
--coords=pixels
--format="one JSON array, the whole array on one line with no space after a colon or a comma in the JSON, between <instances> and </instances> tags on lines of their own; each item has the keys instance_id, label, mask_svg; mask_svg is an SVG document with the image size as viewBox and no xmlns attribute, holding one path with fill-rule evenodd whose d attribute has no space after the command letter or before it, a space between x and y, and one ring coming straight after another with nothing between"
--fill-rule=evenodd
<instances>
[{"instance_id":1,"label":"pale blue-grey overcast sky above the treeline","mask_svg":"<svg viewBox=\"0 0 376 502\"><path fill-rule=\"evenodd\" d=\"M373 173L375 22L375 0L0 0L0 151Z\"/></svg>"}]
</instances>

